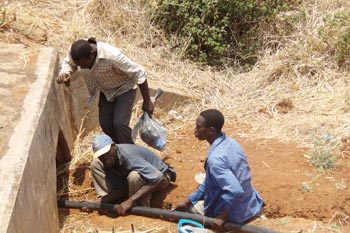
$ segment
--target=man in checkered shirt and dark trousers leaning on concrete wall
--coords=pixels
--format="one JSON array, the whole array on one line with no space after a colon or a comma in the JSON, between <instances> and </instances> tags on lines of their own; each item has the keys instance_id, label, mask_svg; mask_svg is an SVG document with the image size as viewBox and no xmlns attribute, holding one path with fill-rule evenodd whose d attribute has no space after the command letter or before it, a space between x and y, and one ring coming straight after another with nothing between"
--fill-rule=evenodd
<instances>
[{"instance_id":1,"label":"man in checkered shirt and dark trousers leaning on concrete wall","mask_svg":"<svg viewBox=\"0 0 350 233\"><path fill-rule=\"evenodd\" d=\"M102 130L115 143L133 144L129 123L137 86L143 97L142 109L150 116L154 109L144 68L118 48L95 38L72 44L56 81L69 83L78 67L89 90L89 104L100 94L98 106Z\"/></svg>"}]
</instances>

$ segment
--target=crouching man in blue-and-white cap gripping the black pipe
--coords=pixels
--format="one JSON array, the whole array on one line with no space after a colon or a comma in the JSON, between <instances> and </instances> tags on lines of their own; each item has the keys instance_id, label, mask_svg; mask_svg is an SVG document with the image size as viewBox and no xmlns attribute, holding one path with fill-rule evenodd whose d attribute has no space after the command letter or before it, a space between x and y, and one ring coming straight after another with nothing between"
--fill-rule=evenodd
<instances>
[{"instance_id":1,"label":"crouching man in blue-and-white cap gripping the black pipe","mask_svg":"<svg viewBox=\"0 0 350 233\"><path fill-rule=\"evenodd\" d=\"M100 201L120 203L125 215L135 206L150 206L152 193L176 180L175 170L149 149L134 144L115 144L105 134L92 140L92 180Z\"/></svg>"}]
</instances>

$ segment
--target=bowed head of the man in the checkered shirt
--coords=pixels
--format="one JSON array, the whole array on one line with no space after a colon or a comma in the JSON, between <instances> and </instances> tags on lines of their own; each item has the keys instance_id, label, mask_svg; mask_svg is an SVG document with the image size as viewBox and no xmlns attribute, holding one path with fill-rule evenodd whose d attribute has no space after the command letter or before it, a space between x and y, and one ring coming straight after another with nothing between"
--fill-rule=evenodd
<instances>
[{"instance_id":1,"label":"bowed head of the man in the checkered shirt","mask_svg":"<svg viewBox=\"0 0 350 233\"><path fill-rule=\"evenodd\" d=\"M96 51L86 40L75 41L70 49L74 64L83 69L90 68L95 60Z\"/></svg>"}]
</instances>

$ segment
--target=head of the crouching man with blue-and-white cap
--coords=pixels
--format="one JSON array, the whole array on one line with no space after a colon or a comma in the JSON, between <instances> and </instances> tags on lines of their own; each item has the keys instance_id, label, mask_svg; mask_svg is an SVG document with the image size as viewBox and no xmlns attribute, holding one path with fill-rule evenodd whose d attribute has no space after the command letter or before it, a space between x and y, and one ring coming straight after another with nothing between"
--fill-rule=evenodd
<instances>
[{"instance_id":1,"label":"head of the crouching man with blue-and-white cap","mask_svg":"<svg viewBox=\"0 0 350 233\"><path fill-rule=\"evenodd\" d=\"M94 151L94 159L98 158L105 167L111 167L116 161L116 151L114 142L105 134L97 135L92 140L92 150Z\"/></svg>"}]
</instances>

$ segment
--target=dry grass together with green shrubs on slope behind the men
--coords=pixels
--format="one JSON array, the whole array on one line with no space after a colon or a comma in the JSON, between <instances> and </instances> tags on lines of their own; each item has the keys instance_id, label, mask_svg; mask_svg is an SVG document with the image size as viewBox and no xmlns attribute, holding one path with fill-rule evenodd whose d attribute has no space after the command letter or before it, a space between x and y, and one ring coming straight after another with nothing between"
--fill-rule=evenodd
<instances>
[{"instance_id":1,"label":"dry grass together with green shrubs on slope behind the men","mask_svg":"<svg viewBox=\"0 0 350 233\"><path fill-rule=\"evenodd\" d=\"M298 143L310 164L337 169L350 158L349 9L348 0L11 0L0 2L0 41L63 57L94 36L143 64L153 87L190 97L173 109L179 120L162 116L168 129L218 108L241 137Z\"/></svg>"}]
</instances>

